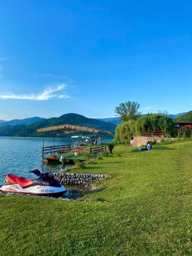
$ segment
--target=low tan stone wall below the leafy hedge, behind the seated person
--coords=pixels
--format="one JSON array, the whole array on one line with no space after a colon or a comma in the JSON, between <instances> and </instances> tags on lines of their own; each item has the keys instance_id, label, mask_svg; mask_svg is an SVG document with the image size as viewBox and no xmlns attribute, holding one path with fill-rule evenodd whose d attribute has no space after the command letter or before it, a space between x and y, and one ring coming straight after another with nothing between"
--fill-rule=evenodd
<instances>
[{"instance_id":1,"label":"low tan stone wall below the leafy hedge, behind the seated person","mask_svg":"<svg viewBox=\"0 0 192 256\"><path fill-rule=\"evenodd\" d=\"M159 137L159 136L135 136L133 138L133 146L134 147L139 147L141 145L145 145L147 141L156 141L157 143L160 143L162 140L163 141L175 141L178 138L167 138L167 137Z\"/></svg>"}]
</instances>

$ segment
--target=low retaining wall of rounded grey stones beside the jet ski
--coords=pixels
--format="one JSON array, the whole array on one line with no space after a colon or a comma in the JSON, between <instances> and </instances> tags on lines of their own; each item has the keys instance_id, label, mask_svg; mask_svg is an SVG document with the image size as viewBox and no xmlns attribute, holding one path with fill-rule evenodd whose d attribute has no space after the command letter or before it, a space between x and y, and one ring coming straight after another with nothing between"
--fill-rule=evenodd
<instances>
[{"instance_id":1,"label":"low retaining wall of rounded grey stones beside the jet ski","mask_svg":"<svg viewBox=\"0 0 192 256\"><path fill-rule=\"evenodd\" d=\"M80 185L106 178L103 174L54 173L61 185Z\"/></svg>"}]
</instances>

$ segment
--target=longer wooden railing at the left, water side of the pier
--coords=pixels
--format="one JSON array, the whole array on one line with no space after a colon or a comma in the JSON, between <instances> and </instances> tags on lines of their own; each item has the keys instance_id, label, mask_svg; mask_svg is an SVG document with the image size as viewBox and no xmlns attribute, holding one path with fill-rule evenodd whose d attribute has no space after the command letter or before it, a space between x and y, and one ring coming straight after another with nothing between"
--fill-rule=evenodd
<instances>
[{"instance_id":1,"label":"longer wooden railing at the left, water side of the pier","mask_svg":"<svg viewBox=\"0 0 192 256\"><path fill-rule=\"evenodd\" d=\"M59 155L68 153L71 151L70 145L55 145L55 146L44 146L42 147L42 158L50 155Z\"/></svg>"}]
</instances>

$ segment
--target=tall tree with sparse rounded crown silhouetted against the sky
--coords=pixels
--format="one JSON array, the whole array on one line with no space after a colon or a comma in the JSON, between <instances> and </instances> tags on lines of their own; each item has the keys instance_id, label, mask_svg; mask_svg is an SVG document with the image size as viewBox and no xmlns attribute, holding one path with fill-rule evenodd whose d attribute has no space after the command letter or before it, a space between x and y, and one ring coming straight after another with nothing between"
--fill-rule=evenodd
<instances>
[{"instance_id":1,"label":"tall tree with sparse rounded crown silhouetted against the sky","mask_svg":"<svg viewBox=\"0 0 192 256\"><path fill-rule=\"evenodd\" d=\"M140 104L138 102L127 101L125 103L120 103L119 106L116 106L115 113L117 116L120 116L123 122L128 120L136 120L140 115L139 112Z\"/></svg>"}]
</instances>

